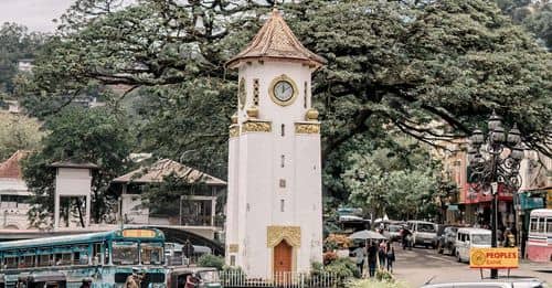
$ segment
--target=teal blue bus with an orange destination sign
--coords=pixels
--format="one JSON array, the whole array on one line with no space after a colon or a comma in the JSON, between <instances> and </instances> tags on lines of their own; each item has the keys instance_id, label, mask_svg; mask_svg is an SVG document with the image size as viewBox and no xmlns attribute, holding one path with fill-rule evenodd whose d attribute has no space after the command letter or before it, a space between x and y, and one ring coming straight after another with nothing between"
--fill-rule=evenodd
<instances>
[{"instance_id":1,"label":"teal blue bus with an orange destination sign","mask_svg":"<svg viewBox=\"0 0 552 288\"><path fill-rule=\"evenodd\" d=\"M0 243L1 286L77 288L123 287L132 273L144 288L166 288L164 235L156 228ZM23 284L23 285L22 285Z\"/></svg>"}]
</instances>

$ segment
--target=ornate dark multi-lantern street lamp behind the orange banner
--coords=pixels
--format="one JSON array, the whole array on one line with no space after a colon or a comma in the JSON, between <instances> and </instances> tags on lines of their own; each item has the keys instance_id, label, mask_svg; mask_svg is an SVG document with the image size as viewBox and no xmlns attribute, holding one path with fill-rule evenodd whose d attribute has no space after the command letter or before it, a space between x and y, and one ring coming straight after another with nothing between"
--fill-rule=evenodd
<instances>
[{"instance_id":1,"label":"ornate dark multi-lantern street lamp behind the orange banner","mask_svg":"<svg viewBox=\"0 0 552 288\"><path fill-rule=\"evenodd\" d=\"M497 247L497 188L501 183L511 191L519 189L521 184L519 168L523 159L523 148L517 125L507 134L501 117L495 111L489 118L488 130L488 134L484 135L477 129L469 138L468 161L471 171L469 182L475 184L475 191L490 190L492 194L491 246ZM490 277L498 278L498 270L491 269Z\"/></svg>"}]
</instances>

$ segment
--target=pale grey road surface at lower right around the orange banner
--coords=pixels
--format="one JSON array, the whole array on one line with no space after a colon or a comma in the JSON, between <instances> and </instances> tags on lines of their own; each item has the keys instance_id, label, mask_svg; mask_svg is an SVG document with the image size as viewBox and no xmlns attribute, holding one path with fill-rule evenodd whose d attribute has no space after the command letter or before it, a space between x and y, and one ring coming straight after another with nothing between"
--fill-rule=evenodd
<instances>
[{"instance_id":1,"label":"pale grey road surface at lower right around the orange banner","mask_svg":"<svg viewBox=\"0 0 552 288\"><path fill-rule=\"evenodd\" d=\"M395 246L395 277L411 287L420 287L433 277L434 282L446 281L479 281L481 279L479 269L470 269L466 263L458 263L455 257L439 255L436 249L413 248L403 250ZM484 270L484 277L489 277L490 271ZM506 277L507 270L499 270L499 277ZM520 263L519 269L510 271L512 278L539 278L552 285L552 268L544 269L543 266Z\"/></svg>"}]
</instances>

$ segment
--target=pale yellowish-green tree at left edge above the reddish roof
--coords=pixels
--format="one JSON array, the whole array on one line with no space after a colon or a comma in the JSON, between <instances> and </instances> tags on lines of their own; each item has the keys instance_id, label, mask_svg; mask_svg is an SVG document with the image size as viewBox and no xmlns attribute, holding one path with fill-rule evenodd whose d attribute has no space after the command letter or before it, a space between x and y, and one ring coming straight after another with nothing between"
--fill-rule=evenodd
<instances>
[{"instance_id":1,"label":"pale yellowish-green tree at left edge above the reddish roof","mask_svg":"<svg viewBox=\"0 0 552 288\"><path fill-rule=\"evenodd\" d=\"M0 161L18 150L36 150L45 132L41 124L24 115L0 113Z\"/></svg>"}]
</instances>

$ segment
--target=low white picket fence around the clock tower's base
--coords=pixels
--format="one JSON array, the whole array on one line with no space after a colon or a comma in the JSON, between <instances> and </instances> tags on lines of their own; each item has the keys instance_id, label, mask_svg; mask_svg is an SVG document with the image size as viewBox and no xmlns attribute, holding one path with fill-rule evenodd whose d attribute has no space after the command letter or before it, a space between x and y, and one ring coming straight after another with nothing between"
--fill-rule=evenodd
<instances>
[{"instance_id":1,"label":"low white picket fence around the clock tower's base","mask_svg":"<svg viewBox=\"0 0 552 288\"><path fill-rule=\"evenodd\" d=\"M225 288L273 287L273 288L333 288L340 287L340 279L331 273L310 275L305 273L276 273L272 279L248 278L243 271L222 271L221 282Z\"/></svg>"}]
</instances>

